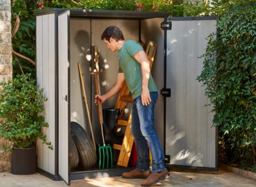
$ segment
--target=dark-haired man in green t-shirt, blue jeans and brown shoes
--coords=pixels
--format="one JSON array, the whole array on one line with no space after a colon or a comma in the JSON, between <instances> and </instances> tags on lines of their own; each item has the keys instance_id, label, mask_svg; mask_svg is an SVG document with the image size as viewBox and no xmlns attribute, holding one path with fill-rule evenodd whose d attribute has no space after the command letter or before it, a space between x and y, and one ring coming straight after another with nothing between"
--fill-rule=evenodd
<instances>
[{"instance_id":1,"label":"dark-haired man in green t-shirt, blue jeans and brown shoes","mask_svg":"<svg viewBox=\"0 0 256 187\"><path fill-rule=\"evenodd\" d=\"M136 169L122 174L127 179L145 179L142 186L151 186L169 175L164 164L164 152L154 126L154 108L158 98L150 63L142 46L136 41L125 41L116 26L109 26L101 35L107 48L118 52L119 69L116 83L103 95L95 96L103 103L115 95L126 81L133 97L131 134L134 137L138 159ZM149 152L152 155L152 173L149 172Z\"/></svg>"}]
</instances>

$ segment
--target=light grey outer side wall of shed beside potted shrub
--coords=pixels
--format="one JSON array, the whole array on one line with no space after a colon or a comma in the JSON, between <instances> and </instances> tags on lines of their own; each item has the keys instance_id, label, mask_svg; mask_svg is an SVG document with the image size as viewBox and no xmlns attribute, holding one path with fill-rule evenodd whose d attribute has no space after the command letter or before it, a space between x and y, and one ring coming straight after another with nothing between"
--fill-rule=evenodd
<instances>
[{"instance_id":1,"label":"light grey outer side wall of shed beside potted shrub","mask_svg":"<svg viewBox=\"0 0 256 187\"><path fill-rule=\"evenodd\" d=\"M54 14L37 16L37 83L44 90L48 101L45 102L45 121L48 128L43 128L47 141L55 145L55 20ZM37 140L37 166L54 174L54 150Z\"/></svg>"}]
</instances>

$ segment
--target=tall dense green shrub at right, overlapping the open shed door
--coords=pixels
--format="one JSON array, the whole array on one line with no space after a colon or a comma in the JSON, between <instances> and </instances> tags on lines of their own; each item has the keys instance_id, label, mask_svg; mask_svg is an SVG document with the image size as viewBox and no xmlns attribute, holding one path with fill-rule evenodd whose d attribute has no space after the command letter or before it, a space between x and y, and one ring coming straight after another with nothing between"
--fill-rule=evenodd
<instances>
[{"instance_id":1,"label":"tall dense green shrub at right, overlapping the open shed door","mask_svg":"<svg viewBox=\"0 0 256 187\"><path fill-rule=\"evenodd\" d=\"M204 70L206 85L222 139L235 161L253 162L256 147L256 3L233 1L217 22L218 38L209 37ZM252 151L253 150L253 151ZM254 155L255 156L255 155Z\"/></svg>"}]
</instances>

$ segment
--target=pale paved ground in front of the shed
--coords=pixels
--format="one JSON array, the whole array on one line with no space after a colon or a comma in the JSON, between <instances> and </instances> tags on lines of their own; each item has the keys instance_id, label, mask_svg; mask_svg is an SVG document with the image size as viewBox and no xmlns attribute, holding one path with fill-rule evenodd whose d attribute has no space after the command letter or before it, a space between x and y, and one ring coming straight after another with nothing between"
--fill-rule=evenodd
<instances>
[{"instance_id":1,"label":"pale paved ground in front of the shed","mask_svg":"<svg viewBox=\"0 0 256 187\"><path fill-rule=\"evenodd\" d=\"M256 180L242 177L231 173L223 168L219 172L204 172L197 170L172 169L169 172L171 177L160 181L153 186L175 186L175 187L256 187ZM122 179L122 177L105 177L95 179L72 180L70 186L76 187L135 187L140 186L142 179ZM47 177L35 173L33 175L12 175L7 172L0 173L0 186L2 187L60 187L67 186L63 181L52 181Z\"/></svg>"}]
</instances>

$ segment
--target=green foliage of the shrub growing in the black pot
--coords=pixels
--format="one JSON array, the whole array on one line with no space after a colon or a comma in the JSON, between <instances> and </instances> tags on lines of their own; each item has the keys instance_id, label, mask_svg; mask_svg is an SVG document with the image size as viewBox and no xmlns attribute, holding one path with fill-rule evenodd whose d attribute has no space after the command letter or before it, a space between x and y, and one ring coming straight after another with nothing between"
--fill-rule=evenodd
<instances>
[{"instance_id":1,"label":"green foliage of the shrub growing in the black pot","mask_svg":"<svg viewBox=\"0 0 256 187\"><path fill-rule=\"evenodd\" d=\"M3 90L0 95L1 120L0 137L13 143L17 148L28 148L37 138L52 148L41 128L48 127L42 115L44 111L43 89L39 89L36 80L30 74L17 75L8 83L0 83ZM10 150L9 146L7 150ZM6 151L6 147L3 146Z\"/></svg>"}]
</instances>

